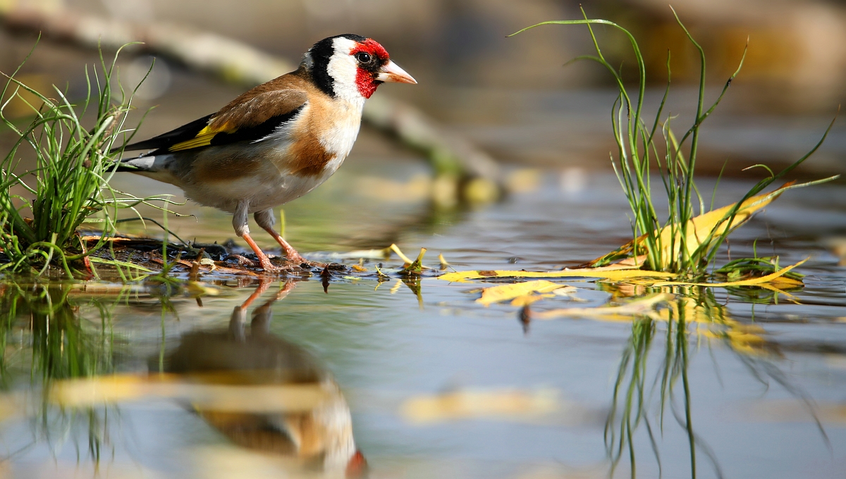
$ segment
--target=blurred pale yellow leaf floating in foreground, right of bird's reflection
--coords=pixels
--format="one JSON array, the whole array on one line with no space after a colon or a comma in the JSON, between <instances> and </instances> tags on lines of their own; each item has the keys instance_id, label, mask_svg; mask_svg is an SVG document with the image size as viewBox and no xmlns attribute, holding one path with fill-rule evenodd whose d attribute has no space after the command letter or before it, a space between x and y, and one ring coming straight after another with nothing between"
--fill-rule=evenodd
<instances>
[{"instance_id":1,"label":"blurred pale yellow leaf floating in foreground, right of bird's reflection","mask_svg":"<svg viewBox=\"0 0 846 479\"><path fill-rule=\"evenodd\" d=\"M558 391L537 389L464 390L405 400L400 415L413 424L459 419L532 419L558 411Z\"/></svg>"}]
</instances>

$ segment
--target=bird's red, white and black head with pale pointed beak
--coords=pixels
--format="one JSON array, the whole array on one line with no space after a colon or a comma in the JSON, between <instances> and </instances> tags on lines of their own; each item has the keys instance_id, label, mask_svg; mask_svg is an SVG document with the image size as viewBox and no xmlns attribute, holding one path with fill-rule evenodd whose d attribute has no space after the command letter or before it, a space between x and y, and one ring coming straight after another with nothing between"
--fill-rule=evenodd
<instances>
[{"instance_id":1,"label":"bird's red, white and black head with pale pointed beak","mask_svg":"<svg viewBox=\"0 0 846 479\"><path fill-rule=\"evenodd\" d=\"M384 82L417 83L391 61L379 42L349 33L315 43L305 53L302 66L327 95L349 101L370 98Z\"/></svg>"}]
</instances>

